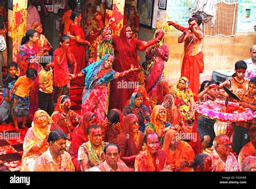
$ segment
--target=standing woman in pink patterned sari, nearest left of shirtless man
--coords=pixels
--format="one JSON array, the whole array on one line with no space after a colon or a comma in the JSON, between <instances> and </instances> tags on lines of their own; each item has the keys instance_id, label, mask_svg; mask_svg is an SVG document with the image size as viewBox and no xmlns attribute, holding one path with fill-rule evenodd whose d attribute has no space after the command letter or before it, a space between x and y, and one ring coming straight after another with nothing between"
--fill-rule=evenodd
<instances>
[{"instance_id":1,"label":"standing woman in pink patterned sari, nearest left of shirtless man","mask_svg":"<svg viewBox=\"0 0 256 189\"><path fill-rule=\"evenodd\" d=\"M164 35L164 31L157 30L155 37ZM155 105L164 101L164 96L169 93L164 78L164 62L169 59L169 48L163 42L163 38L156 44L146 49L146 60L150 62L149 73L146 77L146 91ZM157 90L158 89L158 90Z\"/></svg>"}]
</instances>

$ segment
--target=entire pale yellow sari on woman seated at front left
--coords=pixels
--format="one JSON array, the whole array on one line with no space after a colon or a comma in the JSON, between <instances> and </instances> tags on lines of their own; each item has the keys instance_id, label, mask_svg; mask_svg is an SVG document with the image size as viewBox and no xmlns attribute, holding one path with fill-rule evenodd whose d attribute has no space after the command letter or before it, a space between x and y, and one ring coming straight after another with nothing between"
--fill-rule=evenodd
<instances>
[{"instance_id":1,"label":"entire pale yellow sari on woman seated at front left","mask_svg":"<svg viewBox=\"0 0 256 189\"><path fill-rule=\"evenodd\" d=\"M48 119L48 125L44 128L38 125L36 121L36 118L40 113L44 113ZM41 154L43 154L48 149L49 145L43 146L37 152L30 152L30 150L35 144L41 143L45 139L45 137L50 134L51 130L55 129L53 120L51 119L49 114L44 110L38 110L35 112L33 117L33 122L31 125L32 126L26 132L25 138L24 138L24 143L23 143L24 152L22 156L21 171L34 170L34 165L36 163L37 158L41 156ZM56 128L58 127L56 126Z\"/></svg>"}]
</instances>

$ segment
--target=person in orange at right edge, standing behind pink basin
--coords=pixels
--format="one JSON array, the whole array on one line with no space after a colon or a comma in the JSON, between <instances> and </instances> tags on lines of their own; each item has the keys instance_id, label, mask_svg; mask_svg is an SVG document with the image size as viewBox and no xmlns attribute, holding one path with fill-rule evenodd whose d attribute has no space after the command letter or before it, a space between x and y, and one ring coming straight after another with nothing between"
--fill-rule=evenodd
<instances>
[{"instance_id":1,"label":"person in orange at right edge, standing behind pink basin","mask_svg":"<svg viewBox=\"0 0 256 189\"><path fill-rule=\"evenodd\" d=\"M240 105L256 111L256 77L250 80L248 90L239 91ZM241 148L249 142L249 129L256 125L256 119L249 122L239 122L234 125L233 150L239 154Z\"/></svg>"}]
</instances>

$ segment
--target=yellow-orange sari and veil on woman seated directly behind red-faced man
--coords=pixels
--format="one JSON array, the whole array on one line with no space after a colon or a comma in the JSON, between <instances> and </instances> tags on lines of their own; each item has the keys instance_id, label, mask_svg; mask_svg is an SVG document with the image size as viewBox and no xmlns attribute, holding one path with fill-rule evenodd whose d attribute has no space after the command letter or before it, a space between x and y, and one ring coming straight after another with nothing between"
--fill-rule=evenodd
<instances>
[{"instance_id":1,"label":"yellow-orange sari and veil on woman seated directly behind red-faced man","mask_svg":"<svg viewBox=\"0 0 256 189\"><path fill-rule=\"evenodd\" d=\"M147 123L144 134L146 134L148 132L155 132L155 133L159 134L159 132L161 130L163 130L164 128L169 127L169 126L173 127L173 125L171 123L166 122L166 114L165 114L164 122L160 123L159 125L157 124L157 116L158 116L160 110L163 110L163 109L166 110L165 107L162 105L154 106L152 113L151 113L151 117L150 117L150 123ZM160 145L163 145L163 143L164 143L164 136L160 138Z\"/></svg>"}]
</instances>

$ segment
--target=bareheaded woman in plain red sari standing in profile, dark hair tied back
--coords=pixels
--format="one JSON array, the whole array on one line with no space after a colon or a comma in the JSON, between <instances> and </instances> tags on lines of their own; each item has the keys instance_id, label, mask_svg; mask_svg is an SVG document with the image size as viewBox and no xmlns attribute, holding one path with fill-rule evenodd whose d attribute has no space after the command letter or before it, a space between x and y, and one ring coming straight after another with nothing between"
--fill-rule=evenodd
<instances>
[{"instance_id":1,"label":"bareheaded woman in plain red sari standing in profile, dark hair tied back","mask_svg":"<svg viewBox=\"0 0 256 189\"><path fill-rule=\"evenodd\" d=\"M84 31L80 26L80 21L82 19L82 16L80 12L78 11L73 11L70 19L72 19L73 23L70 24L69 27L69 35L70 35L70 46L71 46L71 51L73 55L75 55L76 62L77 62L77 72L79 73L80 70L83 70L86 67L85 63L85 46L84 45L89 45L90 42L87 42L84 37ZM71 66L71 70L72 70ZM71 71L72 72L72 71ZM82 78L77 78L72 82L73 84L77 85L84 85L84 77Z\"/></svg>"}]
</instances>

